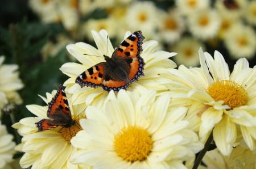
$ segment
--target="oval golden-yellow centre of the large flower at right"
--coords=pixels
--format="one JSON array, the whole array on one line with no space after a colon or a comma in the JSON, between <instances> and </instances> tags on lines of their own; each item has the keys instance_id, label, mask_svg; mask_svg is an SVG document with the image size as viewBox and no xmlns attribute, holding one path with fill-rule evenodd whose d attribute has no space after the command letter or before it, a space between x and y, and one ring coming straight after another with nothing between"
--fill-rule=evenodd
<instances>
[{"instance_id":1,"label":"oval golden-yellow centre of the large flower at right","mask_svg":"<svg viewBox=\"0 0 256 169\"><path fill-rule=\"evenodd\" d=\"M214 82L207 90L215 101L224 100L224 104L230 108L245 105L248 100L245 88L233 81Z\"/></svg>"}]
</instances>

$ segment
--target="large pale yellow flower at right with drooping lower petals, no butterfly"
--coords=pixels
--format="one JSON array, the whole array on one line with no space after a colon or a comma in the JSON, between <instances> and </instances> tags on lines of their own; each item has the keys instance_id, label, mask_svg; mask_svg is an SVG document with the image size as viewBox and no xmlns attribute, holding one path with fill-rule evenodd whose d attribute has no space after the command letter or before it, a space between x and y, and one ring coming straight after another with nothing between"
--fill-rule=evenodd
<instances>
[{"instance_id":1,"label":"large pale yellow flower at right with drooping lower petals, no butterfly","mask_svg":"<svg viewBox=\"0 0 256 169\"><path fill-rule=\"evenodd\" d=\"M201 141L207 140L213 130L213 138L224 155L229 155L237 141L237 128L241 129L243 140L253 150L256 128L256 67L250 68L241 58L230 74L224 57L214 52L199 50L201 68L181 65L170 69L172 97L176 105L196 105L199 111L191 112L189 122L199 126ZM206 62L206 63L205 63ZM176 103L175 103L176 102ZM195 107L194 107L195 109ZM199 125L200 124L200 125Z\"/></svg>"}]
</instances>

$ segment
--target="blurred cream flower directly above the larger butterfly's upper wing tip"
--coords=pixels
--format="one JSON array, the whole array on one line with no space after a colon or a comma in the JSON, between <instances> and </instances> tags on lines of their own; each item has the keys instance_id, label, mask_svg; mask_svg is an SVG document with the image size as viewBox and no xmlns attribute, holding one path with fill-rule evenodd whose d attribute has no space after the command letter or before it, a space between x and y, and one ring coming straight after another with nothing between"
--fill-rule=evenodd
<instances>
[{"instance_id":1,"label":"blurred cream flower directly above the larger butterfly's upper wing tip","mask_svg":"<svg viewBox=\"0 0 256 169\"><path fill-rule=\"evenodd\" d=\"M149 1L135 2L126 13L127 28L131 31L141 30L148 39L154 39L159 26L159 11L154 3Z\"/></svg>"}]
</instances>

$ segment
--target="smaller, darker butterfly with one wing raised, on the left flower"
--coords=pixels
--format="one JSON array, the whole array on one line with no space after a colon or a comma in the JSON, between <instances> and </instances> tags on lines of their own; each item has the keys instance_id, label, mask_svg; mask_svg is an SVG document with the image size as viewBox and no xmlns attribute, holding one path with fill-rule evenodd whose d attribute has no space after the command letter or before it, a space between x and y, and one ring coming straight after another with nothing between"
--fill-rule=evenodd
<instances>
[{"instance_id":1,"label":"smaller, darker butterfly with one wing raised, on the left flower","mask_svg":"<svg viewBox=\"0 0 256 169\"><path fill-rule=\"evenodd\" d=\"M42 119L35 123L38 127L38 132L56 128L57 126L70 127L76 122L72 119L67 96L62 85L57 88L57 93L48 104L47 117L50 119Z\"/></svg>"}]
</instances>

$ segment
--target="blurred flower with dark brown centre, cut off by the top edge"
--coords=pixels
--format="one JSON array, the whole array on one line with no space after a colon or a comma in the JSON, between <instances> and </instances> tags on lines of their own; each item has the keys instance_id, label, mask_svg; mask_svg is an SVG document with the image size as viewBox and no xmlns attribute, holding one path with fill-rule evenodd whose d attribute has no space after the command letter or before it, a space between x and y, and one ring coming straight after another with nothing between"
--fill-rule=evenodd
<instances>
[{"instance_id":1,"label":"blurred flower with dark brown centre, cut off by the top edge","mask_svg":"<svg viewBox=\"0 0 256 169\"><path fill-rule=\"evenodd\" d=\"M227 17L234 18L234 19L239 19L247 7L247 1L245 1L245 0L233 0L233 1L217 0L215 3L215 7L221 15L225 15Z\"/></svg>"}]
</instances>

